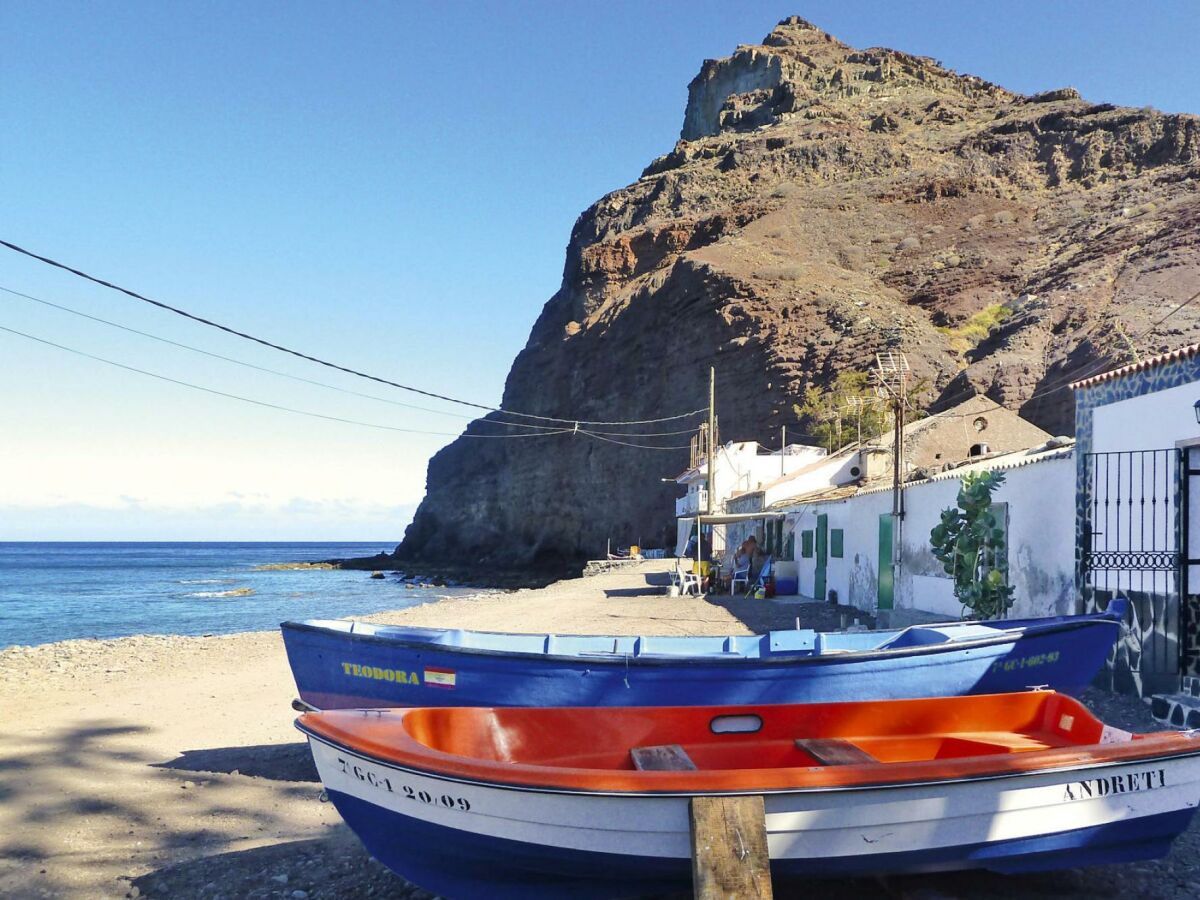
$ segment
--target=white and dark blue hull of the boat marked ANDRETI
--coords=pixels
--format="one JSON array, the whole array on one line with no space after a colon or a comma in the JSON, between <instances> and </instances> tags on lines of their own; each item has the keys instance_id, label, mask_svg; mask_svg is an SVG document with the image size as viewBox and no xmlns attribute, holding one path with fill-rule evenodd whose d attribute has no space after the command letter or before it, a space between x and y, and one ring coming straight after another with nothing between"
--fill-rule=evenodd
<instances>
[{"instance_id":1,"label":"white and dark blue hull of the boat marked ANDRETI","mask_svg":"<svg viewBox=\"0 0 1200 900\"><path fill-rule=\"evenodd\" d=\"M310 733L329 797L372 856L452 898L688 890L688 796L451 779ZM772 875L1040 871L1163 856L1200 800L1200 754L1020 775L764 794Z\"/></svg>"}]
</instances>

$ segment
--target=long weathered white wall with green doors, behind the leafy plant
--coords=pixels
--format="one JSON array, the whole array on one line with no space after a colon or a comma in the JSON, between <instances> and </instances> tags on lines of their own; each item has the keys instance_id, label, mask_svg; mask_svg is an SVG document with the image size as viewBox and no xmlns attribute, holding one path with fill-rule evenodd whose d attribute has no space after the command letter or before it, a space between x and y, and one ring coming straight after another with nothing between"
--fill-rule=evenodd
<instances>
[{"instance_id":1,"label":"long weathered white wall with green doors, behind the leafy plant","mask_svg":"<svg viewBox=\"0 0 1200 900\"><path fill-rule=\"evenodd\" d=\"M1009 582L1015 588L1010 618L1076 612L1075 463L1073 457L1048 460L1004 472L995 502L1008 505ZM954 586L930 551L929 534L943 509L956 505L960 479L926 481L905 490L906 515L896 529L900 566L895 580L895 618L905 612L958 618L962 608ZM841 559L830 558L826 586L842 604L874 614L877 610L880 516L892 511L892 492L875 491L846 500L806 504L792 512L797 533L816 528L817 514L829 517L829 529L844 532ZM800 557L800 593L812 596L816 559Z\"/></svg>"}]
</instances>

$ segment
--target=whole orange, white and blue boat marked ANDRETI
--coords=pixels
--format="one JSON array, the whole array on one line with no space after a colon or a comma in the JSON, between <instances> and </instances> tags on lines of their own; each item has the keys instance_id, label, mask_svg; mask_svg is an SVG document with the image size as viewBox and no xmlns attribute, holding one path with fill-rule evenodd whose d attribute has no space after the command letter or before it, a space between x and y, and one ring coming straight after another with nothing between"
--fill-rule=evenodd
<instances>
[{"instance_id":1,"label":"whole orange, white and blue boat marked ANDRETI","mask_svg":"<svg viewBox=\"0 0 1200 900\"><path fill-rule=\"evenodd\" d=\"M774 877L1162 856L1200 737L1135 736L1052 691L746 707L308 713L371 853L451 898L686 889L688 800L764 797Z\"/></svg>"}]
</instances>

